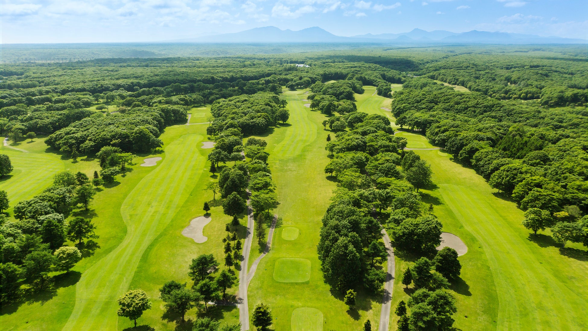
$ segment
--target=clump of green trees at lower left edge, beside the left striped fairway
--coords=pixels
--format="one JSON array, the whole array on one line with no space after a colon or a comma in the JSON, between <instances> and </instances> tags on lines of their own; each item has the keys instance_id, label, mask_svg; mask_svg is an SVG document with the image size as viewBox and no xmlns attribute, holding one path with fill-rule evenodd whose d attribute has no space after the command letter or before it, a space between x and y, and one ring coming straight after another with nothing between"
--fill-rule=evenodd
<instances>
[{"instance_id":1,"label":"clump of green trees at lower left edge, beside the left striped fairway","mask_svg":"<svg viewBox=\"0 0 588 331\"><path fill-rule=\"evenodd\" d=\"M88 209L95 194L88 183L81 172L56 173L52 186L14 206L14 221L0 215L2 303L18 299L21 280L36 290L46 289L50 272L68 272L82 258L81 250L93 246L92 240L83 243L98 238L91 220L76 216L66 222L72 208ZM0 190L0 208L8 206L8 196ZM63 246L66 240L75 246Z\"/></svg>"}]
</instances>

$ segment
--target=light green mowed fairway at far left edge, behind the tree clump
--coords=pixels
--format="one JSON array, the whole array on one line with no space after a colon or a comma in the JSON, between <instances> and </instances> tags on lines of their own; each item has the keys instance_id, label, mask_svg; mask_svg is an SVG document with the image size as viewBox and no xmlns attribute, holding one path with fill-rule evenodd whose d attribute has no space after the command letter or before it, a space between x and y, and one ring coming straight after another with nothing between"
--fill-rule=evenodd
<instances>
[{"instance_id":1,"label":"light green mowed fairway at far left edge, behind the tree clump","mask_svg":"<svg viewBox=\"0 0 588 331\"><path fill-rule=\"evenodd\" d=\"M26 146L19 148L25 149ZM25 153L4 146L0 153L8 155L14 167L11 177L0 182L0 189L8 193L11 206L41 193L51 186L55 173L65 169L58 156L48 153Z\"/></svg>"}]
</instances>

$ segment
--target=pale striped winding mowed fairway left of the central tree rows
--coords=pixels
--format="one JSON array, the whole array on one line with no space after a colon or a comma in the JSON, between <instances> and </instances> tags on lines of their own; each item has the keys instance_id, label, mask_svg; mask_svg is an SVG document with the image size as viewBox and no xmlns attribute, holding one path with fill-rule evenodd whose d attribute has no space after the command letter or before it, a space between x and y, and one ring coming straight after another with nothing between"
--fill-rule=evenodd
<instances>
[{"instance_id":1,"label":"pale striped winding mowed fairway left of the central tree rows","mask_svg":"<svg viewBox=\"0 0 588 331\"><path fill-rule=\"evenodd\" d=\"M64 330L116 329L116 299L128 289L142 253L187 198L205 164L198 152L186 152L202 141L185 135L165 148L165 159L139 182L121 206L125 239L113 252L83 273L76 286L76 305Z\"/></svg>"}]
</instances>

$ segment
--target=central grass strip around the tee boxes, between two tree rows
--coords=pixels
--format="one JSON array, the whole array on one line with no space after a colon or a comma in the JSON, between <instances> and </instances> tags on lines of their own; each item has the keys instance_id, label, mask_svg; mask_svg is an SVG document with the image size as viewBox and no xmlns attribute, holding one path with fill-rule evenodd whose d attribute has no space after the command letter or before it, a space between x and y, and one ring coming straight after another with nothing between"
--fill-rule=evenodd
<instances>
[{"instance_id":1,"label":"central grass strip around the tee boxes, between two tree rows","mask_svg":"<svg viewBox=\"0 0 588 331\"><path fill-rule=\"evenodd\" d=\"M304 313L300 314L302 317L293 319L293 316L298 316L296 312L303 312L296 310L299 308L312 308L322 313L324 322L321 326L325 330L359 330L368 318L377 327L382 300L380 295L366 297L360 291L358 309L348 312L342 297L330 291L320 271L316 253L320 219L330 203L335 183L328 180L323 172L329 162L328 152L325 151L329 132L321 124L325 116L303 106L306 103L300 101L306 96L303 92L283 93L288 100L290 119L287 125L263 137L268 141L268 162L278 186L276 192L280 206L274 212L282 218L282 226L276 229L272 249L259 263L249 285L249 312L260 302L269 305L275 318L275 330L320 330L309 328L308 323L312 325L312 322L300 321L306 318ZM292 237L288 235L291 230L286 230L286 238L282 233L289 227L299 230L294 240L290 240ZM252 248L253 252L255 248ZM279 261L284 258L308 260L310 279L306 282L275 280L276 268L280 267Z\"/></svg>"}]
</instances>

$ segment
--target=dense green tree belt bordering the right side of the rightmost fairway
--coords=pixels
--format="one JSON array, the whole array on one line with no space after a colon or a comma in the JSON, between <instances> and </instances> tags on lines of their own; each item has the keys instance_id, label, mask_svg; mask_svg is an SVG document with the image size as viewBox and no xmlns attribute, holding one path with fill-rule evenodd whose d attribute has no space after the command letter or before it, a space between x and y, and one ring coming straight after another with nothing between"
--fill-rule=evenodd
<instances>
[{"instance_id":1,"label":"dense green tree belt bordering the right side of the rightmost fairway","mask_svg":"<svg viewBox=\"0 0 588 331\"><path fill-rule=\"evenodd\" d=\"M527 229L552 228L562 245L587 242L581 220L588 208L583 112L496 101L424 78L406 82L392 109L398 124L426 133L518 202Z\"/></svg>"}]
</instances>

